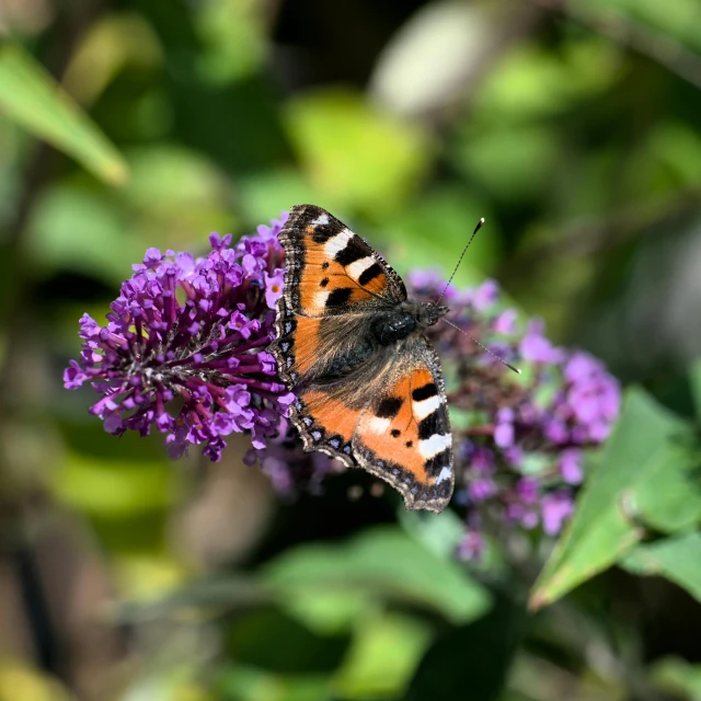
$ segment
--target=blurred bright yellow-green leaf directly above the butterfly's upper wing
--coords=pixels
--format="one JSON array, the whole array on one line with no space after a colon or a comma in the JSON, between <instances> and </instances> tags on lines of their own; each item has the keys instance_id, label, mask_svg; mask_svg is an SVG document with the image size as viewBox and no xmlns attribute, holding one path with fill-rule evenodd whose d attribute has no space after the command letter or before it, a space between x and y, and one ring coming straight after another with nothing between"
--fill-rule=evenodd
<instances>
[{"instance_id":1,"label":"blurred bright yellow-green leaf directly above the butterfly's upper wing","mask_svg":"<svg viewBox=\"0 0 701 701\"><path fill-rule=\"evenodd\" d=\"M286 122L321 204L334 210L376 216L397 210L433 160L426 131L353 92L297 97L287 106Z\"/></svg>"}]
</instances>

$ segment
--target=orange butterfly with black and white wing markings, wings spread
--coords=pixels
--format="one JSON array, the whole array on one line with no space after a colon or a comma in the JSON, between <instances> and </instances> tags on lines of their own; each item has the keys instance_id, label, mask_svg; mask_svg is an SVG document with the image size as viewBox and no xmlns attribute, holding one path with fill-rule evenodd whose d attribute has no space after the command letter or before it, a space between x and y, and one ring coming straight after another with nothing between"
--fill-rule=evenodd
<instances>
[{"instance_id":1,"label":"orange butterfly with black and white wing markings, wings spread","mask_svg":"<svg viewBox=\"0 0 701 701\"><path fill-rule=\"evenodd\" d=\"M424 330L449 310L411 301L401 277L321 207L298 205L279 233L278 372L297 400L306 451L360 467L440 513L453 489L440 361Z\"/></svg>"}]
</instances>

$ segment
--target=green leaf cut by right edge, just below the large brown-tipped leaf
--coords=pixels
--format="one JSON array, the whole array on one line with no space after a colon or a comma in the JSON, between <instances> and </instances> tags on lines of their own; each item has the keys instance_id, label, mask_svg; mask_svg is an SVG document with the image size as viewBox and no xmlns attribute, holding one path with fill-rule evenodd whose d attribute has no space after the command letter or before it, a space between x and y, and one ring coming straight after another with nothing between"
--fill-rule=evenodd
<instances>
[{"instance_id":1,"label":"green leaf cut by right edge, just below the large brown-tipped leaf","mask_svg":"<svg viewBox=\"0 0 701 701\"><path fill-rule=\"evenodd\" d=\"M637 545L621 563L640 575L662 575L701 601L701 533Z\"/></svg>"}]
</instances>

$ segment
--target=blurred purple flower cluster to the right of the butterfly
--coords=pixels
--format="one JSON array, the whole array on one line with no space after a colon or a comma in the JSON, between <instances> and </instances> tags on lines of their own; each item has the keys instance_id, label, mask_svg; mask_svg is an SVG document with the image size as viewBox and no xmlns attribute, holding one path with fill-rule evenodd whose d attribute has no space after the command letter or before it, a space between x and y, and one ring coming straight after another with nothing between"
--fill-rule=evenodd
<instances>
[{"instance_id":1,"label":"blurred purple flower cluster to the right of the butterfly","mask_svg":"<svg viewBox=\"0 0 701 701\"><path fill-rule=\"evenodd\" d=\"M410 285L417 298L430 300L444 283L416 272ZM584 450L607 438L620 407L619 384L598 359L553 346L538 320L519 330L516 311L501 308L498 298L493 280L474 289L448 288L447 320L458 329L438 323L429 330L456 420L462 484L457 498L468 509L460 547L466 559L483 550L485 521L556 535L573 510ZM517 363L524 375L495 356Z\"/></svg>"}]
</instances>

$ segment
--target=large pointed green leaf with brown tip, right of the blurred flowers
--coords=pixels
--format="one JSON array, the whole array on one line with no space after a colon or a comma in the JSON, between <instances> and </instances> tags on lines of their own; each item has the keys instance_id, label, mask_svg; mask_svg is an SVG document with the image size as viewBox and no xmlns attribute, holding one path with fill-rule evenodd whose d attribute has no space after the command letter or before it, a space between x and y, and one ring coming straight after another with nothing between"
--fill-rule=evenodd
<instances>
[{"instance_id":1,"label":"large pointed green leaf with brown tip, right of the blurred flowers","mask_svg":"<svg viewBox=\"0 0 701 701\"><path fill-rule=\"evenodd\" d=\"M609 567L641 539L631 518L636 490L659 471L679 467L677 439L687 425L641 389L625 398L623 413L577 501L575 515L533 586L530 606L552 604Z\"/></svg>"}]
</instances>

